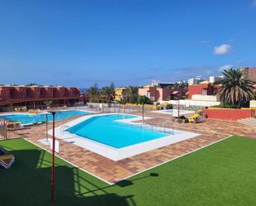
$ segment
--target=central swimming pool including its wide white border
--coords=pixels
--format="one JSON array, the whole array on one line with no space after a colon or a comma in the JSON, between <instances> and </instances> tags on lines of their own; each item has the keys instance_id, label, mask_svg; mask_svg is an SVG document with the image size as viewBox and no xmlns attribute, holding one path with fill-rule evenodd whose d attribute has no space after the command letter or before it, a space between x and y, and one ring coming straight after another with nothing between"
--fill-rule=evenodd
<instances>
[{"instance_id":1,"label":"central swimming pool including its wide white border","mask_svg":"<svg viewBox=\"0 0 256 206\"><path fill-rule=\"evenodd\" d=\"M52 129L48 134L52 134ZM115 161L198 135L167 127L152 128L142 124L141 116L124 113L94 113L56 127L57 138Z\"/></svg>"}]
</instances>

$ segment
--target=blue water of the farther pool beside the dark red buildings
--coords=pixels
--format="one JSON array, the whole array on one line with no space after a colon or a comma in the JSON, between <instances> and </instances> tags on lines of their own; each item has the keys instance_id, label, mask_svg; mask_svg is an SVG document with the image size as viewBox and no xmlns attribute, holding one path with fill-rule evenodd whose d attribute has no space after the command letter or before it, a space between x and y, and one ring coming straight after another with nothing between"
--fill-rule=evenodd
<instances>
[{"instance_id":1,"label":"blue water of the farther pool beside the dark red buildings","mask_svg":"<svg viewBox=\"0 0 256 206\"><path fill-rule=\"evenodd\" d=\"M60 112L56 113L56 121L60 121L60 120L67 119L70 117L85 115L85 114L89 114L89 112L81 111L81 110L60 111ZM7 115L1 115L0 117L7 119L10 122L21 122L22 125L46 122L46 114L44 114L44 113L7 114ZM52 122L52 114L51 113L48 113L48 121Z\"/></svg>"}]
</instances>

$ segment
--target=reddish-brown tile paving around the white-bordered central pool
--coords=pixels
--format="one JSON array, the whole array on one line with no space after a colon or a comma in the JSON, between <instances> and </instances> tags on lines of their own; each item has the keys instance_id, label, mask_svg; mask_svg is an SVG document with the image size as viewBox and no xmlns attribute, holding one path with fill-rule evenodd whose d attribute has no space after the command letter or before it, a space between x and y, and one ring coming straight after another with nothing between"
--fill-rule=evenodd
<instances>
[{"instance_id":1,"label":"reddish-brown tile paving around the white-bordered central pool","mask_svg":"<svg viewBox=\"0 0 256 206\"><path fill-rule=\"evenodd\" d=\"M244 126L239 122L207 120L206 122L198 124L179 124L171 122L171 116L168 114L147 113L147 117L153 117L153 119L148 119L145 122L154 126L174 126L175 129L200 133L200 136L118 161L110 160L92 151L85 150L80 146L75 146L72 143L60 140L60 153L58 156L98 176L100 179L114 183L178 156L185 155L187 152L196 151L203 146L207 146L215 141L220 141L231 134L256 138L256 128ZM70 122L70 120L71 119L56 122L56 126ZM51 125L49 125L49 129L51 129ZM27 138L27 140L50 151L49 146L42 145L37 141L46 138L45 132L46 125L40 125L11 132L10 137Z\"/></svg>"}]
</instances>

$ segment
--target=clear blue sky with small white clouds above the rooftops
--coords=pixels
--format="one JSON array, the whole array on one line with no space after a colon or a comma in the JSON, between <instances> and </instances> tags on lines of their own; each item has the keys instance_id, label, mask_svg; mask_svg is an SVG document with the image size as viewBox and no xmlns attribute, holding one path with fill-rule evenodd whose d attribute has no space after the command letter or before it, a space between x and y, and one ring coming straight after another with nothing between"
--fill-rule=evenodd
<instances>
[{"instance_id":1,"label":"clear blue sky with small white clouds above the rooftops","mask_svg":"<svg viewBox=\"0 0 256 206\"><path fill-rule=\"evenodd\" d=\"M255 22L256 0L0 0L0 84L143 85L256 66Z\"/></svg>"}]
</instances>

